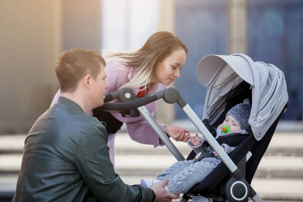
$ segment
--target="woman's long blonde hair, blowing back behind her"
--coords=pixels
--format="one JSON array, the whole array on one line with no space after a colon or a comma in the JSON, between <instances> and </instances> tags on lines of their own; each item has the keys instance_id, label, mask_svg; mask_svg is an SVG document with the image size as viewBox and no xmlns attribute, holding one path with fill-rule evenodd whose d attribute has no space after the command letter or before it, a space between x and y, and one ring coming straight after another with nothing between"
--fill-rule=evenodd
<instances>
[{"instance_id":1,"label":"woman's long blonde hair, blowing back behind her","mask_svg":"<svg viewBox=\"0 0 303 202\"><path fill-rule=\"evenodd\" d=\"M117 61L127 67L136 68L136 76L121 87L141 87L143 89L151 82L158 63L164 61L174 51L184 49L186 56L188 49L186 45L171 32L160 31L151 35L145 44L134 52L110 52L103 51L102 56L109 61Z\"/></svg>"}]
</instances>

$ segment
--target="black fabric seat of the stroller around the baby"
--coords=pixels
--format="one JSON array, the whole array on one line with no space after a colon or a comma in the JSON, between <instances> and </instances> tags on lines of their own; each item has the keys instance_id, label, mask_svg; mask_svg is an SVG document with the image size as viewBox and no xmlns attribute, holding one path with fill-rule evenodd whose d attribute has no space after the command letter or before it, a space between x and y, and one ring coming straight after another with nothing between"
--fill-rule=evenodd
<instances>
[{"instance_id":1,"label":"black fabric seat of the stroller around the baby","mask_svg":"<svg viewBox=\"0 0 303 202\"><path fill-rule=\"evenodd\" d=\"M208 128L209 131L216 131L220 123L225 119L225 114L232 108L234 105L241 103L241 100L248 98L251 100L251 90L249 90L250 85L243 81L240 83L235 90L229 94L227 98L227 103L225 110L212 126L208 123L208 120L203 120L204 125ZM282 110L280 116L286 109ZM279 122L280 116L272 124L272 126L267 131L266 135L262 140L257 141L254 134L251 131L249 125L245 127L245 130L248 134L243 135L232 135L227 137L222 137L216 139L221 145L222 143L229 144L230 146L237 146L229 155L230 159L237 165L243 178L251 183L252 178L254 177L258 165L265 154L265 151L272 139L274 131ZM246 162L246 155L251 154L251 157ZM195 157L195 153L192 150L186 160L192 160ZM227 181L232 177L229 169L226 165L221 162L203 181L193 186L188 192L188 195L203 195L207 197L212 197L214 201L222 201L226 199L225 186ZM248 201L248 200L247 200Z\"/></svg>"}]
</instances>

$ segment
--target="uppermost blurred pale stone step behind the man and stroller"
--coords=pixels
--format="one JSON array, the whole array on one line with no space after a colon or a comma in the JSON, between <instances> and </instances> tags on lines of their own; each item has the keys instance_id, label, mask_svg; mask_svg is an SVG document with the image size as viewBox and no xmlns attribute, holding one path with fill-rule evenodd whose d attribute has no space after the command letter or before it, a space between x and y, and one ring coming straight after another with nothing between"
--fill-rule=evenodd
<instances>
[{"instance_id":1,"label":"uppermost blurred pale stone step behind the man and stroller","mask_svg":"<svg viewBox=\"0 0 303 202\"><path fill-rule=\"evenodd\" d=\"M0 154L22 153L25 134L0 136ZM172 140L181 154L185 157L191 148L184 142ZM154 148L153 145L144 145L134 142L127 133L119 133L115 139L115 153L117 155L171 155L165 146ZM265 156L296 156L303 157L303 134L302 133L276 133L265 153Z\"/></svg>"}]
</instances>

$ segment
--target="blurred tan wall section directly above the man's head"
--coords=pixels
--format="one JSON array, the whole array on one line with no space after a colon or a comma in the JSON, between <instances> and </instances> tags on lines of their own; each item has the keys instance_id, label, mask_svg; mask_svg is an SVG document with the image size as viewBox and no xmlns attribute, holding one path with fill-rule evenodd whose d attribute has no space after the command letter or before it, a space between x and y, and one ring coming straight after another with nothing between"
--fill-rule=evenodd
<instances>
[{"instance_id":1,"label":"blurred tan wall section directly above the man's head","mask_svg":"<svg viewBox=\"0 0 303 202\"><path fill-rule=\"evenodd\" d=\"M62 0L62 48L80 47L100 53L102 10L100 0Z\"/></svg>"}]
</instances>

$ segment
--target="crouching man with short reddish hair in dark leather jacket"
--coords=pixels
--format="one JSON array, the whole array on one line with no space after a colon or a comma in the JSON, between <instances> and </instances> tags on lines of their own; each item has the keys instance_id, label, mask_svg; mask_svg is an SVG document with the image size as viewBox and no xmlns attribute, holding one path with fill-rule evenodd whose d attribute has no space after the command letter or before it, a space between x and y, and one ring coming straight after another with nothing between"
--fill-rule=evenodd
<instances>
[{"instance_id":1,"label":"crouching man with short reddish hair in dark leather jacket","mask_svg":"<svg viewBox=\"0 0 303 202\"><path fill-rule=\"evenodd\" d=\"M114 171L108 134L86 114L104 104L108 88L104 59L73 48L55 66L61 96L42 114L25 139L13 201L171 201L164 183L150 189L126 185Z\"/></svg>"}]
</instances>

